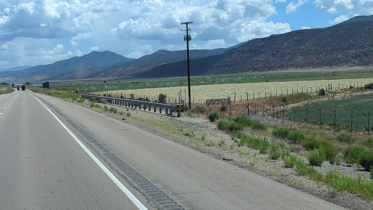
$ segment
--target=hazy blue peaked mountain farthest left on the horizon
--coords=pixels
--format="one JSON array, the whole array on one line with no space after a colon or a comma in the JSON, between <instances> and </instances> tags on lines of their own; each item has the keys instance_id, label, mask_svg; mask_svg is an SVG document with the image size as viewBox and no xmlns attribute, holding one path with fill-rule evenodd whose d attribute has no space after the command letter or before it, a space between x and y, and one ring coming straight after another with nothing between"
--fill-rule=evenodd
<instances>
[{"instance_id":1,"label":"hazy blue peaked mountain farthest left on the horizon","mask_svg":"<svg viewBox=\"0 0 373 210\"><path fill-rule=\"evenodd\" d=\"M3 71L0 72L0 81L34 81L35 79L48 78L50 75L66 74L71 71L89 68L108 67L119 62L132 60L134 59L126 58L110 51L93 51L81 57L72 57L53 64L37 65L20 71Z\"/></svg>"}]
</instances>

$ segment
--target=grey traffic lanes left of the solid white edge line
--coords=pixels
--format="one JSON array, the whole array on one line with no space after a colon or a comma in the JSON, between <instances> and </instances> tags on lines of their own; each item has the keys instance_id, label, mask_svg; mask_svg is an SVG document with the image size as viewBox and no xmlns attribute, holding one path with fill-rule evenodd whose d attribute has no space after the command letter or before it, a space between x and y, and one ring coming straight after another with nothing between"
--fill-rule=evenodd
<instances>
[{"instance_id":1,"label":"grey traffic lanes left of the solid white edge line","mask_svg":"<svg viewBox=\"0 0 373 210\"><path fill-rule=\"evenodd\" d=\"M0 209L137 209L26 91L0 96L0 108L4 106ZM152 209L145 198L137 197Z\"/></svg>"}]
</instances>

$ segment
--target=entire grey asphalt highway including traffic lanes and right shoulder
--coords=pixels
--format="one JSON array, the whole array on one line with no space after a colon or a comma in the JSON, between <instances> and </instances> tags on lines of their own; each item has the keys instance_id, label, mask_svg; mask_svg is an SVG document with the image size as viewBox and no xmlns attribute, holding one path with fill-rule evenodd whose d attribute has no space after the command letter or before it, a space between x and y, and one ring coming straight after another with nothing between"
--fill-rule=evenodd
<instances>
[{"instance_id":1,"label":"entire grey asphalt highway including traffic lanes and right shoulder","mask_svg":"<svg viewBox=\"0 0 373 210\"><path fill-rule=\"evenodd\" d=\"M122 121L32 95L66 129L28 91L0 96L0 209L137 209L138 202L146 209L343 209Z\"/></svg>"}]
</instances>

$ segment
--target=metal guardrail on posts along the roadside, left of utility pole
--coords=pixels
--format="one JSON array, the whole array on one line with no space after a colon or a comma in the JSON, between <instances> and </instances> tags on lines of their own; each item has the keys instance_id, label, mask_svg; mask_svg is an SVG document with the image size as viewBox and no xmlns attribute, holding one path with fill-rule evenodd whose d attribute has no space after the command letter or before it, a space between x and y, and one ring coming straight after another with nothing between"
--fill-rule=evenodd
<instances>
[{"instance_id":1,"label":"metal guardrail on posts along the roadside, left of utility pole","mask_svg":"<svg viewBox=\"0 0 373 210\"><path fill-rule=\"evenodd\" d=\"M90 98L96 98L96 99L104 99L106 103L117 105L117 106L124 106L124 107L131 107L137 109L141 109L142 107L145 107L144 105L148 106L148 111L151 111L151 107L153 106L153 111L157 112L157 108L159 109L159 113L162 114L162 108L165 109L166 114L168 114L168 111L170 110L170 115L172 115L173 111L182 110L184 109L184 105L170 105L170 104L162 104L162 103L156 103L156 102L150 102L150 101L138 101L133 99L125 99L125 98L115 98L115 97L107 97L107 96L97 96L97 95L91 95L91 94L81 94L82 98L84 99L90 99ZM180 107L182 106L182 109ZM146 108L144 108L145 110ZM180 116L180 113L178 112L178 116Z\"/></svg>"}]
</instances>

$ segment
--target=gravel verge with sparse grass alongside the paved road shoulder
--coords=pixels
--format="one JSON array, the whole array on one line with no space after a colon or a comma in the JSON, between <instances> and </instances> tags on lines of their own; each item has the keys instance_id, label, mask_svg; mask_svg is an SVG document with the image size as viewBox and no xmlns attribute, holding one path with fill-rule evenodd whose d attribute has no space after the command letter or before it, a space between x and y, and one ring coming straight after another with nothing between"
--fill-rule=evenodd
<instances>
[{"instance_id":1,"label":"gravel verge with sparse grass alongside the paved road shoulder","mask_svg":"<svg viewBox=\"0 0 373 210\"><path fill-rule=\"evenodd\" d=\"M83 104L74 102L76 105L89 107L88 101ZM101 104L103 106L103 104ZM111 105L107 105L110 108ZM104 112L100 108L90 108L110 117L122 120L132 126L147 130L148 132L162 136L169 140L181 143L189 148L203 152L211 157L233 164L237 167L257 173L261 176L291 186L292 188L312 194L316 197L330 201L332 203L343 206L347 209L371 210L372 204L368 201L357 197L347 191L336 191L334 188L326 185L323 182L318 182L309 179L308 177L299 176L292 168L285 168L282 160L269 160L268 155L260 154L257 150L246 146L238 147L228 134L216 128L215 123L211 123L203 118L194 117L168 117L162 114L147 113L147 111L129 109L130 117L125 115L126 108L116 106L118 111L124 111L123 115ZM255 132L247 129L244 132L251 135L270 135L268 132ZM201 136L205 135L205 140L201 140ZM218 142L224 140L222 146ZM279 139L272 138L271 141ZM297 147L297 146L295 146ZM294 149L294 148L293 148ZM301 150L301 147L296 148ZM295 150L296 150L295 149ZM300 151L299 154L306 154L306 151ZM351 165L347 167L346 165ZM350 176L366 176L369 177L369 172L357 170L355 164L345 164L341 162L341 166L330 165L327 161L322 167L317 167L318 170L325 173L329 170L339 170L343 175Z\"/></svg>"}]
</instances>

